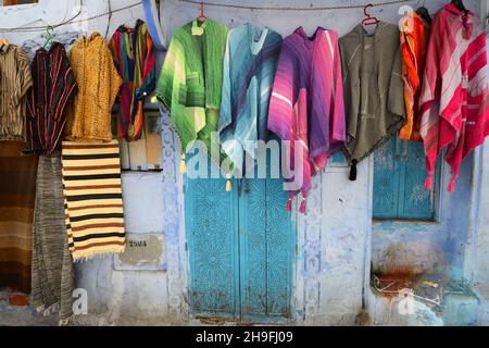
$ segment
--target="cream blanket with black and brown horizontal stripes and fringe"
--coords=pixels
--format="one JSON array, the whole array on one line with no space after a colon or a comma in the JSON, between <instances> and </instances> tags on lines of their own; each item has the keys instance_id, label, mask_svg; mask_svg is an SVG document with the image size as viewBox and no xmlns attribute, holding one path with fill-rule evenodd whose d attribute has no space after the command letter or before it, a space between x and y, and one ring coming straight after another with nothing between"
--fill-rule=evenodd
<instances>
[{"instance_id":1,"label":"cream blanket with black and brown horizontal stripes and fringe","mask_svg":"<svg viewBox=\"0 0 489 348\"><path fill-rule=\"evenodd\" d=\"M118 142L63 141L65 219L73 259L125 248Z\"/></svg>"}]
</instances>

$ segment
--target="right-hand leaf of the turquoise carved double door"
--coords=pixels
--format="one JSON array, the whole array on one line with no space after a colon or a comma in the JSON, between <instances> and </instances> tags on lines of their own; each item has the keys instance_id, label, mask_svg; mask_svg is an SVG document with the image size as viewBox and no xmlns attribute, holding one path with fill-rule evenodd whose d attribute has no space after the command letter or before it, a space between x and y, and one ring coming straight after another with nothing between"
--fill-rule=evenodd
<instances>
[{"instance_id":1,"label":"right-hand leaf of the turquoise carved double door","mask_svg":"<svg viewBox=\"0 0 489 348\"><path fill-rule=\"evenodd\" d=\"M241 184L240 304L246 321L290 318L296 233L285 209L287 198L281 179L251 179Z\"/></svg>"}]
</instances>

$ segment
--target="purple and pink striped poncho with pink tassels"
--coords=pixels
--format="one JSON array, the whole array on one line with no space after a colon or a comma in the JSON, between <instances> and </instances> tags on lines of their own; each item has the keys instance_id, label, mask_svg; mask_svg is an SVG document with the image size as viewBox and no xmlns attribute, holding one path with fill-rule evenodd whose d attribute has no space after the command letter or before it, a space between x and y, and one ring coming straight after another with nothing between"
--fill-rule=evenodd
<instances>
[{"instance_id":1,"label":"purple and pink striped poncho with pink tassels","mask_svg":"<svg viewBox=\"0 0 489 348\"><path fill-rule=\"evenodd\" d=\"M294 149L302 153L302 183L290 191L302 191L301 212L311 189L311 176L325 169L328 158L346 141L341 60L336 32L318 27L309 38L302 27L284 39L268 110L268 129L290 141L290 170ZM286 176L287 179L287 176Z\"/></svg>"}]
</instances>

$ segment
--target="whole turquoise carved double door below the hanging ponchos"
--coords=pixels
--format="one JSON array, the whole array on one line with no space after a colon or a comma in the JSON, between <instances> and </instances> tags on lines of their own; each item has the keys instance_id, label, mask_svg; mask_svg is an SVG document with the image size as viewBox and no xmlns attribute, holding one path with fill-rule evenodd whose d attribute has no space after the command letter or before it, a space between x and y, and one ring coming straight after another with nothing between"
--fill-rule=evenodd
<instances>
[{"instance_id":1,"label":"whole turquoise carved double door below the hanging ponchos","mask_svg":"<svg viewBox=\"0 0 489 348\"><path fill-rule=\"evenodd\" d=\"M225 185L225 179L185 181L191 312L286 321L296 233L283 181L234 179L230 192Z\"/></svg>"}]
</instances>

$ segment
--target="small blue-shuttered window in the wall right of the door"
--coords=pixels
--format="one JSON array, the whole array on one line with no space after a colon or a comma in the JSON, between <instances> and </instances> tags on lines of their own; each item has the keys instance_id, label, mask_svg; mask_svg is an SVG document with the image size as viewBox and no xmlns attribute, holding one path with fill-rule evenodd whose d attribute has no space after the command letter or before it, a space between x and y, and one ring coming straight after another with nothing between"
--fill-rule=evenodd
<instances>
[{"instance_id":1,"label":"small blue-shuttered window in the wall right of the door","mask_svg":"<svg viewBox=\"0 0 489 348\"><path fill-rule=\"evenodd\" d=\"M422 142L392 137L375 152L374 163L374 219L435 220L435 190L423 187L426 169Z\"/></svg>"}]
</instances>

